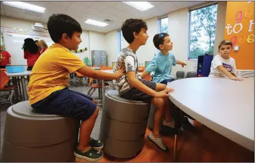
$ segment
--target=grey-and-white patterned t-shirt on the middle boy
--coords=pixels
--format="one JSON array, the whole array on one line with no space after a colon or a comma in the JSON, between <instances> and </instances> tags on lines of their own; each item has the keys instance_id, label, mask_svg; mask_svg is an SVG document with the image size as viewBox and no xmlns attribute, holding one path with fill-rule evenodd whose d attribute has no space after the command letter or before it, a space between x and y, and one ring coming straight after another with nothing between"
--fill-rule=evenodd
<instances>
[{"instance_id":1,"label":"grey-and-white patterned t-shirt on the middle boy","mask_svg":"<svg viewBox=\"0 0 256 163\"><path fill-rule=\"evenodd\" d=\"M113 81L115 89L118 90L119 95L123 95L124 93L126 93L126 91L132 88L132 86L128 82L128 72L135 72L137 79L141 79L141 77L138 75L137 56L133 53L131 49L124 48L121 50L117 60L115 61L113 72L115 72L118 67L123 66L125 66L126 75L123 75L120 79Z\"/></svg>"}]
</instances>

